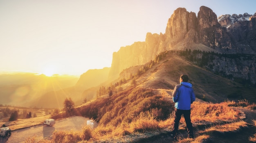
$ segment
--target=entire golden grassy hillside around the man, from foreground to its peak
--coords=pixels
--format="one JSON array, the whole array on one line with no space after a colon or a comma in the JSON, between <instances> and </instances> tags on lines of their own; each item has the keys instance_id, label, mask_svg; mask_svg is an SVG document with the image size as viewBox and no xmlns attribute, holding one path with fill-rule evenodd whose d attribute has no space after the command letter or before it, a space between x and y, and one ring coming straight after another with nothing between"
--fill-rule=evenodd
<instances>
[{"instance_id":1,"label":"entire golden grassy hillside around the man, from foreground to its peak","mask_svg":"<svg viewBox=\"0 0 256 143\"><path fill-rule=\"evenodd\" d=\"M169 135L174 109L171 94L181 74L189 75L197 97L191 105L195 139L186 138L182 118L177 142L249 143L255 139L255 89L195 66L173 51L159 54L154 62L124 70L119 81L105 85L113 91L112 96L103 95L68 114L94 119L99 123L97 128L54 132L52 139L44 142L174 142ZM242 96L232 96L234 93Z\"/></svg>"}]
</instances>

